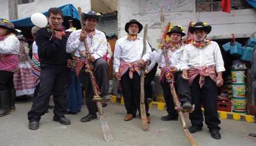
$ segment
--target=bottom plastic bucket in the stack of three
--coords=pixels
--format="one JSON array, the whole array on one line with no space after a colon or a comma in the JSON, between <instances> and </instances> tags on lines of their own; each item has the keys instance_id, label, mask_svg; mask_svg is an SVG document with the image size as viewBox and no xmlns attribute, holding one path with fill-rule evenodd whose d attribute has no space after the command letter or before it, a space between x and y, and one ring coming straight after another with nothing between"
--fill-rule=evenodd
<instances>
[{"instance_id":1,"label":"bottom plastic bucket in the stack of three","mask_svg":"<svg viewBox=\"0 0 256 146\"><path fill-rule=\"evenodd\" d=\"M246 114L246 99L232 99L232 112Z\"/></svg>"}]
</instances>

